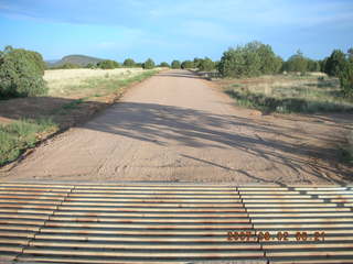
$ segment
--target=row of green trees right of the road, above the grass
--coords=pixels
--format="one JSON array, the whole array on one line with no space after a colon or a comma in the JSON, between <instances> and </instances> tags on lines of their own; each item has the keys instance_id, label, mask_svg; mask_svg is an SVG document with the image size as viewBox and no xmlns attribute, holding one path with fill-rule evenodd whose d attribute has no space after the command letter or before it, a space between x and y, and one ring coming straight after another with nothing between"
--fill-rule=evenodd
<instances>
[{"instance_id":1,"label":"row of green trees right of the road, above the grass","mask_svg":"<svg viewBox=\"0 0 353 264\"><path fill-rule=\"evenodd\" d=\"M270 45L250 42L244 46L228 48L223 53L217 69L222 77L244 78L280 73L322 72L340 78L341 88L346 97L353 98L353 48L346 53L334 50L321 61L306 57L298 51L286 62L277 56Z\"/></svg>"}]
</instances>

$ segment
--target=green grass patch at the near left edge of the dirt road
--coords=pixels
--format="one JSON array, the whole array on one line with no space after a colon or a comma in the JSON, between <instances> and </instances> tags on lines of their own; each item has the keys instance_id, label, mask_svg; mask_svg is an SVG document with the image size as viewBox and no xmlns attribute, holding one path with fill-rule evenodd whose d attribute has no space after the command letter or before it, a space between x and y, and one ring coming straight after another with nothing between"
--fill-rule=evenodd
<instances>
[{"instance_id":1,"label":"green grass patch at the near left edge of the dirt road","mask_svg":"<svg viewBox=\"0 0 353 264\"><path fill-rule=\"evenodd\" d=\"M57 130L50 119L20 120L0 125L0 166L14 161L28 147L33 147L40 140L39 134Z\"/></svg>"}]
</instances>

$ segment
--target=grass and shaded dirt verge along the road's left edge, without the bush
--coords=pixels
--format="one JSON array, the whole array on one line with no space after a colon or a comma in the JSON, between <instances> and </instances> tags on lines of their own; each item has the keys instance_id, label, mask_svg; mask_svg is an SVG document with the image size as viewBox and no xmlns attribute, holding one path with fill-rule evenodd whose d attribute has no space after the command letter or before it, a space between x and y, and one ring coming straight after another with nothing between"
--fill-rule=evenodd
<instances>
[{"instance_id":1,"label":"grass and shaded dirt verge along the road's left edge, without the bush","mask_svg":"<svg viewBox=\"0 0 353 264\"><path fill-rule=\"evenodd\" d=\"M85 79L85 76L82 77L74 73L78 80L86 81L83 85L67 85L75 81L74 78L68 78L73 73L66 70L65 75L68 75L66 76L68 80L64 78L65 75L62 77L63 82L66 81L66 84L60 82L61 86L57 86L56 82L49 84L50 86L56 85L57 89L65 92L55 95L54 88L51 87L50 96L46 97L1 100L0 167L11 168L33 152L33 143L39 145L72 127L85 123L96 113L115 103L128 88L160 72L160 69L136 70L137 73L132 75L129 74L129 69L118 70L126 70L127 75ZM93 70L88 74L97 73ZM54 74L56 75L57 73Z\"/></svg>"}]
</instances>

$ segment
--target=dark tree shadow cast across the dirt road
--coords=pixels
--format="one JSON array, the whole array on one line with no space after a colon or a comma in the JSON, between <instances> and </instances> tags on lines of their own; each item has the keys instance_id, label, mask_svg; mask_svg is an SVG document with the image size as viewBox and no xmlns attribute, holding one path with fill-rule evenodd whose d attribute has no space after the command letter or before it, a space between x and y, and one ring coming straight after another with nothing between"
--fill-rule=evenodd
<instances>
[{"instance_id":1,"label":"dark tree shadow cast across the dirt road","mask_svg":"<svg viewBox=\"0 0 353 264\"><path fill-rule=\"evenodd\" d=\"M254 133L249 135L236 133L235 131L239 130L234 128L242 127L250 129ZM300 138L303 138L304 134L300 134L298 131L293 134L289 128L264 120L213 114L194 109L154 103L120 102L99 118L85 124L84 128L158 145L167 145L172 140L178 144L199 148L212 146L239 150L253 155L254 158L263 157L274 164L280 164L297 172L298 175L301 173L310 174L334 184L344 183L329 175L342 175L343 179L349 179L352 176L351 169L336 167L336 148L302 144ZM256 133L266 134L266 138L257 136ZM281 139L286 139L286 141L279 140L278 135L284 135L285 138ZM312 136L327 142L332 141L330 135L320 132ZM188 158L197 160L192 156ZM325 161L325 163L319 161ZM200 158L199 162L212 163ZM212 164L225 168L222 165ZM249 175L247 172L242 174L266 183L266 180Z\"/></svg>"}]
</instances>

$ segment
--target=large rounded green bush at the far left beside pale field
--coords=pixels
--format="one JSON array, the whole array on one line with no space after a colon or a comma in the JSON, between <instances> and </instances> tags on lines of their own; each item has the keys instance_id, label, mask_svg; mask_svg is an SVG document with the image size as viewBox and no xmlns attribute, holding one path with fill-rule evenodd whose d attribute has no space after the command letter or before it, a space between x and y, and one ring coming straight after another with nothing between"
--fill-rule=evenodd
<instances>
[{"instance_id":1,"label":"large rounded green bush at the far left beside pale field","mask_svg":"<svg viewBox=\"0 0 353 264\"><path fill-rule=\"evenodd\" d=\"M44 68L39 53L6 47L0 52L0 98L45 95Z\"/></svg>"}]
</instances>

